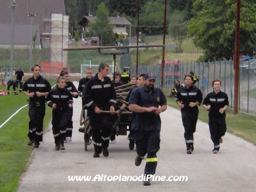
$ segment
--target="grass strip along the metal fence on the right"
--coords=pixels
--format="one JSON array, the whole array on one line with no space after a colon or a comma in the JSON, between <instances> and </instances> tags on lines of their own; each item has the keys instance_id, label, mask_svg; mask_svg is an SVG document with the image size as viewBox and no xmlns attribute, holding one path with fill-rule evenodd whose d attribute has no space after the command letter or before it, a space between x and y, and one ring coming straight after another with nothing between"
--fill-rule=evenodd
<instances>
[{"instance_id":1,"label":"grass strip along the metal fence on the right","mask_svg":"<svg viewBox=\"0 0 256 192\"><path fill-rule=\"evenodd\" d=\"M169 92L165 90L167 97L167 104L173 108L180 109L176 104L176 100L172 99L167 95ZM198 119L203 122L208 123L208 111L205 110L202 106L199 106ZM227 123L227 132L234 134L238 137L247 140L250 143L256 145L256 117L250 116L244 113L238 113L237 115L233 114L232 110L226 111L226 123Z\"/></svg>"}]
</instances>

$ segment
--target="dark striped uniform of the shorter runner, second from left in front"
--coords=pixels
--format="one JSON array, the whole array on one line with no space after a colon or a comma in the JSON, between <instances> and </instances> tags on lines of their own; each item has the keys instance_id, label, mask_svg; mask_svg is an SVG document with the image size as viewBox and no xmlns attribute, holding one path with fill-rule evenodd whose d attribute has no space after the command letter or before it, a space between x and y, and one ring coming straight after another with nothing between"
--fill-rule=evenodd
<instances>
[{"instance_id":1,"label":"dark striped uniform of the shorter runner, second from left in front","mask_svg":"<svg viewBox=\"0 0 256 192\"><path fill-rule=\"evenodd\" d=\"M66 140L66 128L68 121L69 104L73 103L73 97L69 90L58 88L50 90L46 97L46 104L52 108L52 133L55 143L63 143Z\"/></svg>"}]
</instances>

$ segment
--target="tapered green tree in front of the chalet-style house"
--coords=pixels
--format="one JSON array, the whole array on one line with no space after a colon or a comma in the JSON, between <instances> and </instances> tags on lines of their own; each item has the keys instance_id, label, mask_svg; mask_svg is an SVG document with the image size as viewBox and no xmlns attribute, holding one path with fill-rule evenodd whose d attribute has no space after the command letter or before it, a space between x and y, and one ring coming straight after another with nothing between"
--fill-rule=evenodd
<instances>
[{"instance_id":1,"label":"tapered green tree in front of the chalet-style house","mask_svg":"<svg viewBox=\"0 0 256 192\"><path fill-rule=\"evenodd\" d=\"M102 45L114 43L113 26L109 23L108 15L108 9L104 3L101 3L96 12L96 22L91 23L91 30L99 39L102 39Z\"/></svg>"}]
</instances>

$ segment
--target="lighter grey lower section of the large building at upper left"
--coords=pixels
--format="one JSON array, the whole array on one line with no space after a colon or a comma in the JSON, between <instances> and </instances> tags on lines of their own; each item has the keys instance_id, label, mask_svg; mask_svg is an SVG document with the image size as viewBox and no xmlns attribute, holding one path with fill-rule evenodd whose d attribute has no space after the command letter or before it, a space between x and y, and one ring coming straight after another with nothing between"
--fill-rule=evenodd
<instances>
[{"instance_id":1,"label":"lighter grey lower section of the large building at upper left","mask_svg":"<svg viewBox=\"0 0 256 192\"><path fill-rule=\"evenodd\" d=\"M30 39L35 35L35 30L38 30L35 44L40 45L40 31L38 24L32 24L32 36L31 36L31 24L29 23L15 23L14 24L14 44L15 45L30 45ZM0 23L0 44L11 44L12 40L12 23Z\"/></svg>"}]
</instances>

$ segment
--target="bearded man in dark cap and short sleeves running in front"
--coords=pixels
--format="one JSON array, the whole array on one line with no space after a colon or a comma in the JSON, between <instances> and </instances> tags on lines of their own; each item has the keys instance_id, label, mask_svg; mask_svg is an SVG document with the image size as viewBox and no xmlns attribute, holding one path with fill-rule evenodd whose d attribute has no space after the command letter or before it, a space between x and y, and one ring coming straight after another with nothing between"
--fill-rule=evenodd
<instances>
[{"instance_id":1,"label":"bearded man in dark cap and short sleeves running in front","mask_svg":"<svg viewBox=\"0 0 256 192\"><path fill-rule=\"evenodd\" d=\"M154 73L145 75L145 85L133 90L129 98L130 111L137 114L135 128L135 143L137 157L135 165L140 166L142 157L147 154L143 184L150 185L150 180L157 168L157 151L160 149L160 113L166 111L166 97L163 91L154 87ZM160 106L160 107L159 107Z\"/></svg>"}]
</instances>

